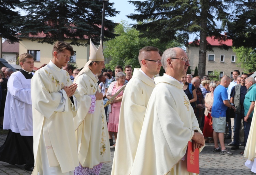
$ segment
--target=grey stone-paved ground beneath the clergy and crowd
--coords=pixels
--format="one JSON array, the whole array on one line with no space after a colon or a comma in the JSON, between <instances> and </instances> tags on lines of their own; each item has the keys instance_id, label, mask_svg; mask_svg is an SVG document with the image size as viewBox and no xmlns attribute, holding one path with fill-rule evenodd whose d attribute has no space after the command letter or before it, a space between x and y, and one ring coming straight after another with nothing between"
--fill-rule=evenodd
<instances>
[{"instance_id":1,"label":"grey stone-paved ground beneath the clergy and crowd","mask_svg":"<svg viewBox=\"0 0 256 175\"><path fill-rule=\"evenodd\" d=\"M0 135L0 145L5 141L6 135ZM225 145L231 140L227 139ZM241 147L241 146L240 146ZM241 147L239 150L232 151L233 156L225 156L219 153L213 153L214 144L207 143L203 151L199 154L200 174L225 174L225 175L246 175L254 174L247 167L244 162L246 159L239 153L244 150ZM230 150L230 146L227 146ZM114 150L111 150L111 157L113 160ZM111 174L112 162L104 163L100 175ZM29 175L31 172L24 169L24 165L10 165L9 163L0 161L0 175Z\"/></svg>"}]
</instances>

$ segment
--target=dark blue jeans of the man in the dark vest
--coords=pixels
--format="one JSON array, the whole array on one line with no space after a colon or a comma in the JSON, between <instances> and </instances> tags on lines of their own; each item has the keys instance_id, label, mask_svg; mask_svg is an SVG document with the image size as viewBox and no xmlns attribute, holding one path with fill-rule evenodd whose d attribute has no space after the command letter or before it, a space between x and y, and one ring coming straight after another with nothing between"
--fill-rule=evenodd
<instances>
[{"instance_id":1,"label":"dark blue jeans of the man in the dark vest","mask_svg":"<svg viewBox=\"0 0 256 175\"><path fill-rule=\"evenodd\" d=\"M243 124L244 124L245 123L244 122L244 108L241 108L241 112L239 114L236 113L236 117L234 118L234 145L237 145L237 146L239 146L239 134L240 134L240 127L241 127L241 120L243 120ZM244 134L245 134L245 127L244 127Z\"/></svg>"}]
</instances>

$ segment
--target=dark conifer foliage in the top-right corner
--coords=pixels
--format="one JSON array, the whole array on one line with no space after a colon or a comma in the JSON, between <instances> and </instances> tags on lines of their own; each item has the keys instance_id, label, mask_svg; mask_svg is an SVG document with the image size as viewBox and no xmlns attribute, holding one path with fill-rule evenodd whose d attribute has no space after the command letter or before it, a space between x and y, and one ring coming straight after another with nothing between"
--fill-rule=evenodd
<instances>
[{"instance_id":1,"label":"dark conifer foliage in the top-right corner","mask_svg":"<svg viewBox=\"0 0 256 175\"><path fill-rule=\"evenodd\" d=\"M234 47L256 48L256 1L233 0L236 7L233 20L228 22L227 35Z\"/></svg>"}]
</instances>

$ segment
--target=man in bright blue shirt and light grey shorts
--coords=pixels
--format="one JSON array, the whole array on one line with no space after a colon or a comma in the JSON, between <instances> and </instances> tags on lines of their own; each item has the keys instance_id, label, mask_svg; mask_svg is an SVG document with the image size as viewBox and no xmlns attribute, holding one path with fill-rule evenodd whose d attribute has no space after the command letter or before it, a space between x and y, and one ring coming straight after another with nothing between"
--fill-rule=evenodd
<instances>
[{"instance_id":1,"label":"man in bright blue shirt and light grey shorts","mask_svg":"<svg viewBox=\"0 0 256 175\"><path fill-rule=\"evenodd\" d=\"M228 92L227 87L230 83L230 77L224 75L221 79L221 84L216 87L213 94L213 106L212 106L212 127L213 127L213 140L214 140L214 150L213 152L219 152L223 155L233 155L224 144L224 133L226 130L226 110L235 107L228 102ZM218 145L221 144L221 148Z\"/></svg>"}]
</instances>

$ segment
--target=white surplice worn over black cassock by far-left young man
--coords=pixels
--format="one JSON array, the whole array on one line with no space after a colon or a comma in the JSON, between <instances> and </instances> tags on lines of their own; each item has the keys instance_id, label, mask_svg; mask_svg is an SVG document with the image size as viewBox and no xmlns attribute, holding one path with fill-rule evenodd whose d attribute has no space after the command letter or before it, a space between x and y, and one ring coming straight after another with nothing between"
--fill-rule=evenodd
<instances>
[{"instance_id":1,"label":"white surplice worn over black cassock by far-left young man","mask_svg":"<svg viewBox=\"0 0 256 175\"><path fill-rule=\"evenodd\" d=\"M17 71L12 73L7 84L3 129L11 129L21 136L33 136L30 82L31 79Z\"/></svg>"}]
</instances>

